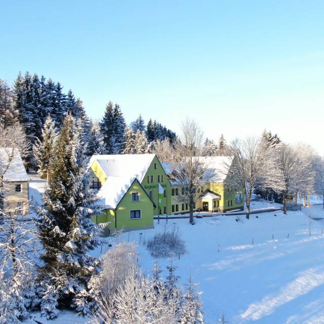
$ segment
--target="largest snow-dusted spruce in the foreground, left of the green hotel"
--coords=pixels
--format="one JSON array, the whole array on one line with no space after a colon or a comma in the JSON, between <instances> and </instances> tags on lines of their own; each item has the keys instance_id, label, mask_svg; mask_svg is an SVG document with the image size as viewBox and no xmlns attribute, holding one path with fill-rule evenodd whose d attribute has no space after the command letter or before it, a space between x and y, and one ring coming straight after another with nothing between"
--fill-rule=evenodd
<instances>
[{"instance_id":1,"label":"largest snow-dusted spruce in the foreground, left of the green hotel","mask_svg":"<svg viewBox=\"0 0 324 324\"><path fill-rule=\"evenodd\" d=\"M100 244L98 225L91 217L100 214L98 198L90 189L82 129L67 115L50 160L44 206L38 207L38 228L44 246L39 268L38 292L48 318L55 317L59 306L74 308L80 314L94 307L88 282L97 274L98 261L87 254Z\"/></svg>"}]
</instances>

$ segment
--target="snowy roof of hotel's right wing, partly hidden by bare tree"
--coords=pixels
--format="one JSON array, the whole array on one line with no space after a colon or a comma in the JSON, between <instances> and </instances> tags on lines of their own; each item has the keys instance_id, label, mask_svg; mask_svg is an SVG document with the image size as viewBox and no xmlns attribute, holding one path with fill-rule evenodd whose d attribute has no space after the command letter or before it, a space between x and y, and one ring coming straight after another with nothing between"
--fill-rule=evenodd
<instances>
[{"instance_id":1,"label":"snowy roof of hotel's right wing, partly hidden by bare tree","mask_svg":"<svg viewBox=\"0 0 324 324\"><path fill-rule=\"evenodd\" d=\"M207 165L205 171L208 182L224 182L229 171L229 167L233 162L232 156L199 156L201 163ZM161 163L164 171L170 176L174 170L174 162ZM171 184L177 184L176 181L170 177Z\"/></svg>"}]
</instances>

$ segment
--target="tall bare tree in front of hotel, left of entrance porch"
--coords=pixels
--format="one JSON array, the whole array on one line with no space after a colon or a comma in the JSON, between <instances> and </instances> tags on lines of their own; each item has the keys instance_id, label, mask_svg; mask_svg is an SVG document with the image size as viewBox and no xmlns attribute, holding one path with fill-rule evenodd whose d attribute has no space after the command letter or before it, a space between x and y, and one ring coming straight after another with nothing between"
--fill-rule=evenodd
<instances>
[{"instance_id":1,"label":"tall bare tree in front of hotel, left of entrance porch","mask_svg":"<svg viewBox=\"0 0 324 324\"><path fill-rule=\"evenodd\" d=\"M207 164L201 158L203 131L192 119L182 123L180 140L175 142L176 162L172 176L180 186L179 200L189 206L189 222L193 224L193 204L200 193L198 189L208 183Z\"/></svg>"}]
</instances>

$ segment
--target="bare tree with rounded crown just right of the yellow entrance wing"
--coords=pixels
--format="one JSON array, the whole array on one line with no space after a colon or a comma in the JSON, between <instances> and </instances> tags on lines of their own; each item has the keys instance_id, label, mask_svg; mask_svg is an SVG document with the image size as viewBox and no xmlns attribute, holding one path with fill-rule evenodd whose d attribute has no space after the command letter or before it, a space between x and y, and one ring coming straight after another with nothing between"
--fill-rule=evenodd
<instances>
[{"instance_id":1,"label":"bare tree with rounded crown just right of the yellow entrance wing","mask_svg":"<svg viewBox=\"0 0 324 324\"><path fill-rule=\"evenodd\" d=\"M225 162L228 175L226 184L229 187L243 189L247 206L246 218L250 218L252 192L263 182L263 167L266 149L260 149L260 141L255 137L245 140L235 139L229 147L232 163Z\"/></svg>"}]
</instances>

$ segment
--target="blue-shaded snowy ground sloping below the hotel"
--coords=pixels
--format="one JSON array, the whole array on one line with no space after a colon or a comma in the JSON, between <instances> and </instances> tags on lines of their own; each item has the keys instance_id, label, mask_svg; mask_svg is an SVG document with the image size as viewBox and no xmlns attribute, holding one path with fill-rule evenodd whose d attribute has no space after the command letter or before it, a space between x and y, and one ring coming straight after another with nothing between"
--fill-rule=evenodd
<instances>
[{"instance_id":1,"label":"blue-shaded snowy ground sloping below the hotel","mask_svg":"<svg viewBox=\"0 0 324 324\"><path fill-rule=\"evenodd\" d=\"M39 183L37 186L41 187ZM255 204L256 209L267 207ZM194 226L188 219L169 220L170 226L179 226L189 251L174 260L177 274L185 284L191 271L193 280L199 283L207 324L218 322L223 311L233 324L324 323L324 222L309 219L309 215L321 218L324 212L321 206L313 206L287 216L281 211L254 214L250 220L245 216L216 216L197 219ZM154 260L140 240L163 230L165 220L154 222L152 230L124 233L122 237L138 243L140 263L146 272ZM101 249L94 252L100 253ZM159 262L165 276L170 261ZM51 321L38 313L33 315L42 323L89 322L71 312Z\"/></svg>"}]
</instances>

